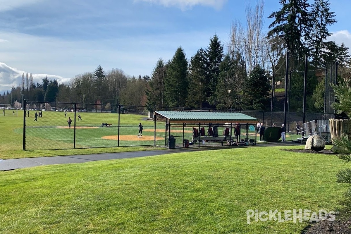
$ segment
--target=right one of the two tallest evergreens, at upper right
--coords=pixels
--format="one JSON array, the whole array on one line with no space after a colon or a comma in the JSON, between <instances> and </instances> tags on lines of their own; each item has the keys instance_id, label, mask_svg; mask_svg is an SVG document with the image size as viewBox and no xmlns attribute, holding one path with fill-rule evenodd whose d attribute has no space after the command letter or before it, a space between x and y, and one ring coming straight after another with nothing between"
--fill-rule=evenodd
<instances>
[{"instance_id":1,"label":"right one of the two tallest evergreens, at upper right","mask_svg":"<svg viewBox=\"0 0 351 234\"><path fill-rule=\"evenodd\" d=\"M337 22L335 13L330 12L330 3L325 0L314 0L312 11L310 13L312 19L313 30L307 36L307 44L312 55L312 64L314 68L324 66L322 55L325 53L326 42L331 33L327 26Z\"/></svg>"}]
</instances>

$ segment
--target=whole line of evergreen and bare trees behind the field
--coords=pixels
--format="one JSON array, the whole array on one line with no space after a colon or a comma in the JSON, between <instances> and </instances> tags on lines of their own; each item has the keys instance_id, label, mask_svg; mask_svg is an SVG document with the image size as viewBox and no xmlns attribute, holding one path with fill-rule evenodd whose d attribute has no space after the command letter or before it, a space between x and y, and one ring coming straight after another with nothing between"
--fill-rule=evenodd
<instances>
[{"instance_id":1,"label":"whole line of evergreen and bare trees behind the field","mask_svg":"<svg viewBox=\"0 0 351 234\"><path fill-rule=\"evenodd\" d=\"M99 65L69 84L43 78L34 85L31 75L23 74L21 85L1 95L0 102L9 103L12 94L11 103L24 96L32 101L150 106L149 111L153 106L270 110L276 85L272 79L285 82L289 51L290 111L302 110L305 55L314 71L307 77L307 111L322 111L324 78L318 71L338 61L342 79L350 69L349 48L326 40L331 36L328 27L337 22L329 1L280 0L280 9L268 16L268 33L263 33L263 9L263 0L247 5L245 24L233 21L227 42L214 34L190 60L178 47L170 60L156 61L150 76L130 77L120 69L105 72ZM273 109L282 108L275 99Z\"/></svg>"}]
</instances>

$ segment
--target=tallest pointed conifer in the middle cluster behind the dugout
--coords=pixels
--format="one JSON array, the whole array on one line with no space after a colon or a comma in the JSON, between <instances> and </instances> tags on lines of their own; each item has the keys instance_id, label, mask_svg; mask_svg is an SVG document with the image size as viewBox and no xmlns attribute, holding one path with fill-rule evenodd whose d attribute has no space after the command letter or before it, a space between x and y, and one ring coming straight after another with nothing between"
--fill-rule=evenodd
<instances>
[{"instance_id":1,"label":"tallest pointed conifer in the middle cluster behind the dugout","mask_svg":"<svg viewBox=\"0 0 351 234\"><path fill-rule=\"evenodd\" d=\"M223 59L223 45L219 41L218 36L215 34L210 39L210 45L206 49L207 57L207 100L216 92L218 76L220 73L219 65Z\"/></svg>"}]
</instances>

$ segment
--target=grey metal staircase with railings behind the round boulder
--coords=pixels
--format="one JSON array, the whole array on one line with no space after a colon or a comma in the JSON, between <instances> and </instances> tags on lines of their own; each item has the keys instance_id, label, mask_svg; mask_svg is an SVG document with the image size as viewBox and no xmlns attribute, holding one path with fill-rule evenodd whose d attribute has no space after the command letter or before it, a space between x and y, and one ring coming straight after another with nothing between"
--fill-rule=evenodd
<instances>
[{"instance_id":1,"label":"grey metal staircase with railings behind the round boulder","mask_svg":"<svg viewBox=\"0 0 351 234\"><path fill-rule=\"evenodd\" d=\"M307 138L312 135L320 135L323 137L326 143L331 142L331 135L329 130L329 120L312 120L307 123L303 123L302 127L298 129L301 133L301 138L297 138L297 142L304 143Z\"/></svg>"}]
</instances>

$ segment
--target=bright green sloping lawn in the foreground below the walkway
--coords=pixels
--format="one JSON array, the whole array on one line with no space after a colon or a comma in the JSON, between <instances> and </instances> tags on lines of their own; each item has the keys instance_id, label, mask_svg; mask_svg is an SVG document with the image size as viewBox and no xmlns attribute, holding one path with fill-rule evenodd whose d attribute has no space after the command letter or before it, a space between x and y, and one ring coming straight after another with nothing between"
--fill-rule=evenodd
<instances>
[{"instance_id":1,"label":"bright green sloping lawn in the foreground below the walkway","mask_svg":"<svg viewBox=\"0 0 351 234\"><path fill-rule=\"evenodd\" d=\"M335 155L252 147L0 172L1 233L301 233L246 210L337 208ZM301 147L302 148L302 147Z\"/></svg>"}]
</instances>

